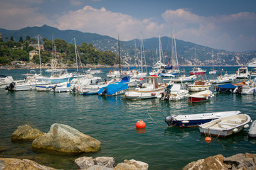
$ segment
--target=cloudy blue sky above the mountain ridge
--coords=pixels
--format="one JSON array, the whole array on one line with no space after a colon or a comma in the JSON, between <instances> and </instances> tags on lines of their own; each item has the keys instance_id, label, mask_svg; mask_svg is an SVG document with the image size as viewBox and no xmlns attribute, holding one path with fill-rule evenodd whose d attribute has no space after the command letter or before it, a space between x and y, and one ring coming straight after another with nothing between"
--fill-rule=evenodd
<instances>
[{"instance_id":1,"label":"cloudy blue sky above the mountain ridge","mask_svg":"<svg viewBox=\"0 0 256 170\"><path fill-rule=\"evenodd\" d=\"M171 37L218 50L256 50L256 0L1 0L0 28L44 24L120 40ZM141 34L142 33L142 34Z\"/></svg>"}]
</instances>

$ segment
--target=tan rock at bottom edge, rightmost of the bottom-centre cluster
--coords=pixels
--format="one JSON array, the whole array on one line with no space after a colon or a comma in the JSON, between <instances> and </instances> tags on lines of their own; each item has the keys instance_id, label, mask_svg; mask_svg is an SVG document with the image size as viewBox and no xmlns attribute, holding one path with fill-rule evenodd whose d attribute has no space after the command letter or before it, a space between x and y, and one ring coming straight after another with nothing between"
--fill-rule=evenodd
<instances>
[{"instance_id":1,"label":"tan rock at bottom edge, rightmost of the bottom-centre cluster","mask_svg":"<svg viewBox=\"0 0 256 170\"><path fill-rule=\"evenodd\" d=\"M117 164L114 170L147 170L149 164L134 159L124 160L124 163Z\"/></svg>"}]
</instances>

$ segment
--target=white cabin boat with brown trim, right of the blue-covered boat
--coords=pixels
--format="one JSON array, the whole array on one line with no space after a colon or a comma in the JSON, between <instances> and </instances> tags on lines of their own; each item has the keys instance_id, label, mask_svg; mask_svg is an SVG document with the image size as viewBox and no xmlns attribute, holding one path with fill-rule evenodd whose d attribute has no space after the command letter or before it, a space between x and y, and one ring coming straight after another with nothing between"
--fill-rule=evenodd
<instances>
[{"instance_id":1,"label":"white cabin boat with brown trim, right of the blue-covered boat","mask_svg":"<svg viewBox=\"0 0 256 170\"><path fill-rule=\"evenodd\" d=\"M161 77L145 77L146 83L139 84L134 90L127 90L124 94L125 99L140 100L147 98L156 98L167 88L167 84L161 84Z\"/></svg>"}]
</instances>

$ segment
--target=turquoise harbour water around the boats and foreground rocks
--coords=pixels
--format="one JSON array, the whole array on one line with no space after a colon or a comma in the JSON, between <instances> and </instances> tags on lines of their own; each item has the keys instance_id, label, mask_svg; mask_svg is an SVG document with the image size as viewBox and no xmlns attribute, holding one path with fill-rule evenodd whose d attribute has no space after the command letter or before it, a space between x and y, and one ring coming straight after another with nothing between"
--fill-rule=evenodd
<instances>
[{"instance_id":1,"label":"turquoise harbour water around the boats and foreground rocks","mask_svg":"<svg viewBox=\"0 0 256 170\"><path fill-rule=\"evenodd\" d=\"M205 67L210 70L210 67ZM183 68L182 68L183 69ZM191 67L185 67L186 73ZM228 74L238 67L224 67ZM110 69L102 69L105 77ZM0 70L0 74L21 79L29 70ZM36 70L39 72L39 70ZM208 75L212 79L217 75ZM238 80L239 81L239 80ZM242 81L242 80L240 80ZM212 86L213 89L213 86ZM56 169L77 169L78 157L114 157L116 164L135 159L149 164L149 169L182 169L189 162L223 154L256 153L256 140L245 129L237 135L204 141L198 128L167 128L166 115L217 111L241 111L256 119L256 95L215 94L210 101L190 104L186 100L127 101L122 96L80 96L78 94L0 89L0 157L31 159ZM149 116L150 115L150 116ZM154 120L152 120L152 119ZM138 133L135 124L144 120L146 130ZM89 154L63 154L34 150L31 142L11 142L18 125L31 125L48 132L53 123L63 123L95 137L101 149Z\"/></svg>"}]
</instances>

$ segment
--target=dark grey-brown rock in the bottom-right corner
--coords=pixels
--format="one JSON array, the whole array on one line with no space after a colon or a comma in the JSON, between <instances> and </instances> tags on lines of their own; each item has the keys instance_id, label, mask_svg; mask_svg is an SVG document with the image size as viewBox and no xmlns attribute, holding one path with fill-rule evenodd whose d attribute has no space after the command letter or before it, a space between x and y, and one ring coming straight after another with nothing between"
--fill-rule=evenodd
<instances>
[{"instance_id":1,"label":"dark grey-brown rock in the bottom-right corner","mask_svg":"<svg viewBox=\"0 0 256 170\"><path fill-rule=\"evenodd\" d=\"M235 154L224 159L224 163L232 165L232 169L255 169L255 154Z\"/></svg>"}]
</instances>

